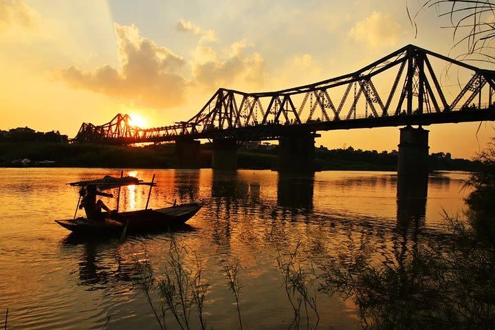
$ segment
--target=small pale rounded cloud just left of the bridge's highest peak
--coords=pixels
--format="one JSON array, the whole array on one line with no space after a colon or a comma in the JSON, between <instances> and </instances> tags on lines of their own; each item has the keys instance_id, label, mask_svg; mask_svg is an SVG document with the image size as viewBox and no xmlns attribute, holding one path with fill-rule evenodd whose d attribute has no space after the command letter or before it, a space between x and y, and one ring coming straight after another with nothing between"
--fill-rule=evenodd
<instances>
[{"instance_id":1,"label":"small pale rounded cloud just left of the bridge's highest peak","mask_svg":"<svg viewBox=\"0 0 495 330\"><path fill-rule=\"evenodd\" d=\"M397 45L402 32L401 25L389 14L373 12L349 31L355 41L365 42L371 47Z\"/></svg>"}]
</instances>

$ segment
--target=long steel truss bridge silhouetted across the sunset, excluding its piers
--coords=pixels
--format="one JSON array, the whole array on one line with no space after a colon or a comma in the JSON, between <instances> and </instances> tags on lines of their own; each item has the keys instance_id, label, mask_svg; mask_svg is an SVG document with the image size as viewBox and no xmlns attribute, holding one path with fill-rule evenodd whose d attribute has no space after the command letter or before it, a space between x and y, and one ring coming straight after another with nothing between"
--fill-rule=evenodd
<instances>
[{"instance_id":1,"label":"long steel truss bridge silhouetted across the sunset, excluding its piers","mask_svg":"<svg viewBox=\"0 0 495 330\"><path fill-rule=\"evenodd\" d=\"M442 85L439 77L452 85ZM351 74L262 93L219 89L192 118L140 129L129 115L83 123L74 142L274 140L335 129L495 120L495 71L407 45Z\"/></svg>"}]
</instances>

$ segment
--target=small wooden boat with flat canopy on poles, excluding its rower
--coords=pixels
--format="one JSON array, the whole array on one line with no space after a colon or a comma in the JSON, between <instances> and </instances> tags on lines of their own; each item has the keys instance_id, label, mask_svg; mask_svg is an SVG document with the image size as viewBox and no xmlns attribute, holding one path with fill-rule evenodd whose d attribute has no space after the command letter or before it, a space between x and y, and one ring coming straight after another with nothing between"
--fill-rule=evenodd
<instances>
[{"instance_id":1,"label":"small wooden boat with flat canopy on poles, excluding its rower","mask_svg":"<svg viewBox=\"0 0 495 330\"><path fill-rule=\"evenodd\" d=\"M78 217L76 219L76 214L74 214L74 219L55 220L55 222L76 234L125 234L125 232L167 230L168 228L174 228L184 224L199 211L201 206L203 206L203 203L192 202L181 205L175 205L174 203L173 206L168 208L159 208L155 210L148 209L151 188L156 186L154 180L155 175L153 175L151 182L143 182L135 177L122 177L121 175L120 178L106 176L103 179L72 182L70 183L71 186L78 186L81 188L87 188L88 186L94 186L100 190L119 188L117 209L121 186L147 185L150 186L150 192L148 193L148 201L146 201L146 208L144 210L110 213L102 212L101 219L86 219L85 217Z\"/></svg>"}]
</instances>

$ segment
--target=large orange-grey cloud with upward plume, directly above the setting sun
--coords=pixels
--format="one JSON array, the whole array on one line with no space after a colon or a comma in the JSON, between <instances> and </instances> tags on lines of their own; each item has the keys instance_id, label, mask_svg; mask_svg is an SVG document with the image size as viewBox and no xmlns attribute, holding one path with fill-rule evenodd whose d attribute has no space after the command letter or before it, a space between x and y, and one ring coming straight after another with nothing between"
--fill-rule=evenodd
<instances>
[{"instance_id":1,"label":"large orange-grey cloud with upward plume, directly above the setting sun","mask_svg":"<svg viewBox=\"0 0 495 330\"><path fill-rule=\"evenodd\" d=\"M89 89L116 98L132 100L145 107L173 107L184 101L186 79L177 74L185 61L166 47L140 36L135 25L114 23L121 63L93 72L77 67L58 70L58 76L72 87Z\"/></svg>"}]
</instances>

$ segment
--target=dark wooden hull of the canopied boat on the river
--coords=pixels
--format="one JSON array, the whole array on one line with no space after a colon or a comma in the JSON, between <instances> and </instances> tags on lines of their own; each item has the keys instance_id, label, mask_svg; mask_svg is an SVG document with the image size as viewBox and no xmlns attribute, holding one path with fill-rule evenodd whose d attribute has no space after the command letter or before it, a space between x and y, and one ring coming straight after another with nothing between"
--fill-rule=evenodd
<instances>
[{"instance_id":1,"label":"dark wooden hull of the canopied boat on the river","mask_svg":"<svg viewBox=\"0 0 495 330\"><path fill-rule=\"evenodd\" d=\"M69 220L55 220L63 228L76 234L120 234L126 232L146 232L167 230L186 223L203 206L202 203L187 203L157 210L137 210L106 214L104 220L89 221L83 217Z\"/></svg>"}]
</instances>

